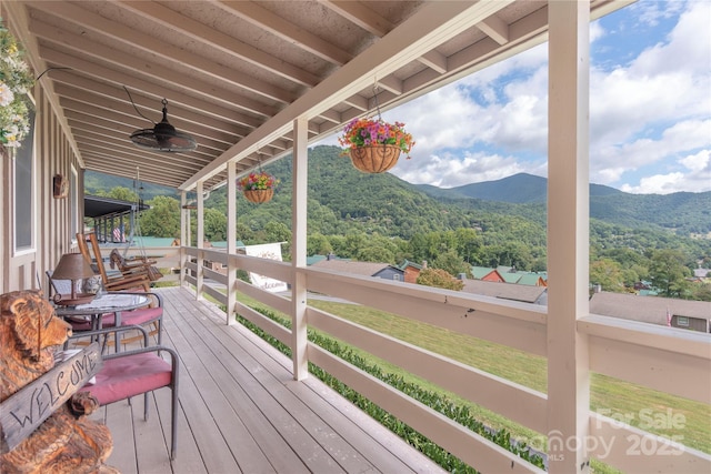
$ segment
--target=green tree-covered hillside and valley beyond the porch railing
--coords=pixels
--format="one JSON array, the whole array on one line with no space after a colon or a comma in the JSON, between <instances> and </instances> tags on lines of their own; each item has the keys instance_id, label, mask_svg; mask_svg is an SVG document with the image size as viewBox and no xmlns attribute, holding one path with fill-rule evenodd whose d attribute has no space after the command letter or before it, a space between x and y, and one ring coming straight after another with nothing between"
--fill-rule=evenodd
<instances>
[{"instance_id":1,"label":"green tree-covered hillside and valley beyond the porch railing","mask_svg":"<svg viewBox=\"0 0 711 474\"><path fill-rule=\"evenodd\" d=\"M511 203L447 192L434 198L431 186L425 193L422 186L390 173L361 173L340 152L336 147L309 151L309 254L333 252L390 263L427 260L432 268L452 274L471 265L545 270L544 201ZM238 194L238 239L248 244L291 239L291 160L280 160L264 170L281 180L271 202L252 204ZM540 188L542 179L531 178ZM527 179L517 178L522 195L532 196L534 185L520 182ZM513 188L503 185L513 193ZM591 281L604 290L624 291L640 279L653 280L657 274L652 269L670 268L670 262L679 270L674 279L682 282L698 262L711 265L711 239L687 234L711 231L711 203L707 202L711 193L633 195L592 186L591 194ZM226 239L226 196L221 188L206 201L208 240ZM177 232L177 199L144 199L153 205L141 218L146 234L176 236L159 233ZM176 222L167 221L170 215Z\"/></svg>"}]
</instances>

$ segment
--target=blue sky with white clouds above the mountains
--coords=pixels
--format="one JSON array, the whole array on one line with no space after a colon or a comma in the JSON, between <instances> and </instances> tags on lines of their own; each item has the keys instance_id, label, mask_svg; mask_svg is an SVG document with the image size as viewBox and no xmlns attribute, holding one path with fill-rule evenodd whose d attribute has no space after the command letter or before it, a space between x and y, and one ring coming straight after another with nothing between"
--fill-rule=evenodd
<instances>
[{"instance_id":1,"label":"blue sky with white clouds above the mountains","mask_svg":"<svg viewBox=\"0 0 711 474\"><path fill-rule=\"evenodd\" d=\"M640 0L590 40L590 181L711 191L711 1ZM417 145L391 172L441 188L545 177L547 97L544 43L392 109Z\"/></svg>"}]
</instances>

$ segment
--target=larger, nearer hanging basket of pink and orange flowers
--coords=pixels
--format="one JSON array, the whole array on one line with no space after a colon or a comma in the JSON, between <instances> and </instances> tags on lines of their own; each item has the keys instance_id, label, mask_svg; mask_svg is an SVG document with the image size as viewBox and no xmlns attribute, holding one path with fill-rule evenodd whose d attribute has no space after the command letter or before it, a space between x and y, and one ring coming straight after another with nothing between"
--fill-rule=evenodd
<instances>
[{"instance_id":1,"label":"larger, nearer hanging basket of pink and orange flowers","mask_svg":"<svg viewBox=\"0 0 711 474\"><path fill-rule=\"evenodd\" d=\"M382 173L398 163L400 153L410 159L414 145L412 135L404 131L404 123L388 123L382 119L353 119L338 139L353 167L367 173Z\"/></svg>"}]
</instances>

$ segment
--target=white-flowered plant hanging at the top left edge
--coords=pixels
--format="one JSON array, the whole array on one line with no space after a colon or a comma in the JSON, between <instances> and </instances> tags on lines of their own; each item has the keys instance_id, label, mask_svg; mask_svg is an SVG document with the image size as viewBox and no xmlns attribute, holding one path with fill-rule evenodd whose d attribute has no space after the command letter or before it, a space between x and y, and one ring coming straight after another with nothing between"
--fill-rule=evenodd
<instances>
[{"instance_id":1,"label":"white-flowered plant hanging at the top left edge","mask_svg":"<svg viewBox=\"0 0 711 474\"><path fill-rule=\"evenodd\" d=\"M32 105L27 93L34 85L34 77L23 56L14 37L0 22L0 148L20 147L30 131Z\"/></svg>"}]
</instances>

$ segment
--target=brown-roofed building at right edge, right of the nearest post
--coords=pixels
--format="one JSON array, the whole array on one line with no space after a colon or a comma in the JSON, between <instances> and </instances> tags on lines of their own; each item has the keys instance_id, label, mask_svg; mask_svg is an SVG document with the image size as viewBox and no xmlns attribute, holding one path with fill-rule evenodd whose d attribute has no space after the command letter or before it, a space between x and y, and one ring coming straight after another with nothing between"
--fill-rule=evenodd
<instances>
[{"instance_id":1,"label":"brown-roofed building at right edge, right of the nearest post","mask_svg":"<svg viewBox=\"0 0 711 474\"><path fill-rule=\"evenodd\" d=\"M711 302L600 292L590 299L590 312L662 326L710 332Z\"/></svg>"}]
</instances>

